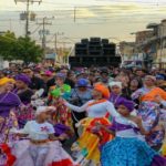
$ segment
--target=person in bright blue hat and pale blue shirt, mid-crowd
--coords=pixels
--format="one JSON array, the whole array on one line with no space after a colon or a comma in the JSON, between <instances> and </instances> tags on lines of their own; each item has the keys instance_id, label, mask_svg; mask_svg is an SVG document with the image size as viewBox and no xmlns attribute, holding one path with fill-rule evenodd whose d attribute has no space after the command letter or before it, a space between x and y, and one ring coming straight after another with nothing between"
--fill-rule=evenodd
<instances>
[{"instance_id":1,"label":"person in bright blue hat and pale blue shirt, mid-crowd","mask_svg":"<svg viewBox=\"0 0 166 166\"><path fill-rule=\"evenodd\" d=\"M81 106L90 100L92 100L92 94L89 85L89 80L80 79L76 83L76 87L73 89L71 92L70 102L76 106ZM72 112L73 128L75 131L76 136L79 135L75 124L82 118L85 118L84 112L83 113Z\"/></svg>"}]
</instances>

